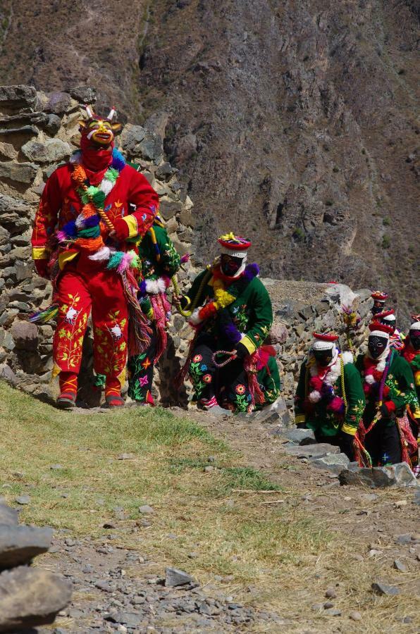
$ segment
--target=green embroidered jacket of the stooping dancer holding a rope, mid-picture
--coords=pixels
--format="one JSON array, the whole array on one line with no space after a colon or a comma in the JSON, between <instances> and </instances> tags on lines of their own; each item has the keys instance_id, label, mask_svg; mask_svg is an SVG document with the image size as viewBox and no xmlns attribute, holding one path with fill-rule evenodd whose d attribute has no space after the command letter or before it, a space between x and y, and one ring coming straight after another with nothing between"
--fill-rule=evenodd
<instances>
[{"instance_id":1,"label":"green embroidered jacket of the stooping dancer holding a rope, mid-picture","mask_svg":"<svg viewBox=\"0 0 420 634\"><path fill-rule=\"evenodd\" d=\"M197 275L190 290L184 296L187 298L187 308L191 303L194 303L194 306L202 306L207 299L214 299L211 280L211 269L205 269ZM245 335L242 337L241 343L245 345L249 354L252 354L264 342L273 323L270 296L264 284L257 277L252 278L247 284L241 279L238 282L235 281L226 286L225 290L236 297L235 301L226 307L226 310L237 330ZM208 332L216 339L223 340L220 325L220 315L216 313L216 316L204 322L203 332Z\"/></svg>"}]
</instances>

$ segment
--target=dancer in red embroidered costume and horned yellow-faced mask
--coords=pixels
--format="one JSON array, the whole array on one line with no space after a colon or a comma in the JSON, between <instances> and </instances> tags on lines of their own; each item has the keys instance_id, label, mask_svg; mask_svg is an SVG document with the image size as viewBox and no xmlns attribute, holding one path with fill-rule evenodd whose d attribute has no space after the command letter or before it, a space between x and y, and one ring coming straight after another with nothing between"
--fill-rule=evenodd
<instances>
[{"instance_id":1,"label":"dancer in red embroidered costume and horned yellow-faced mask","mask_svg":"<svg viewBox=\"0 0 420 634\"><path fill-rule=\"evenodd\" d=\"M159 197L114 148L121 130L113 123L116 111L107 118L88 106L86 112L87 119L79 122L80 151L51 174L35 216L33 259L37 273L53 283L54 304L32 321L57 315L53 375L59 374L58 404L70 407L92 311L94 369L106 375L106 403L121 406L129 312L130 352L147 347L150 333L137 302L140 260L130 240L138 241L152 226Z\"/></svg>"}]
</instances>

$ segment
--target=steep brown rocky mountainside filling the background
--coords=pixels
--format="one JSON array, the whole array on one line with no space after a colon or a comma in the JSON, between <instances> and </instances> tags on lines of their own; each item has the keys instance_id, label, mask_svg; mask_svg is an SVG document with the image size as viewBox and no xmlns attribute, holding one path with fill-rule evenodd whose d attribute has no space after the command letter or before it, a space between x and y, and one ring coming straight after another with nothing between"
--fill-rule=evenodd
<instances>
[{"instance_id":1,"label":"steep brown rocky mountainside filling the background","mask_svg":"<svg viewBox=\"0 0 420 634\"><path fill-rule=\"evenodd\" d=\"M401 313L418 309L416 2L0 8L0 80L94 85L164 136L196 206L196 256L233 229L265 275L386 287Z\"/></svg>"}]
</instances>

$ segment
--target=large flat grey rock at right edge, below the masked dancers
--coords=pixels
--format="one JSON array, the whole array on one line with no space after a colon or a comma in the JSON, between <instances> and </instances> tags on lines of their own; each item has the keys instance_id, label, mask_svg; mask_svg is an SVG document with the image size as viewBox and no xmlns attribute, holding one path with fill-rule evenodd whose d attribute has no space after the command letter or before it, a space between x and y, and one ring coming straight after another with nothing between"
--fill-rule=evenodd
<instances>
[{"instance_id":1,"label":"large flat grey rock at right edge, below the masked dancers","mask_svg":"<svg viewBox=\"0 0 420 634\"><path fill-rule=\"evenodd\" d=\"M373 488L416 487L418 481L407 462L400 462L384 467L363 468L354 466L340 473L341 485L364 485Z\"/></svg>"}]
</instances>

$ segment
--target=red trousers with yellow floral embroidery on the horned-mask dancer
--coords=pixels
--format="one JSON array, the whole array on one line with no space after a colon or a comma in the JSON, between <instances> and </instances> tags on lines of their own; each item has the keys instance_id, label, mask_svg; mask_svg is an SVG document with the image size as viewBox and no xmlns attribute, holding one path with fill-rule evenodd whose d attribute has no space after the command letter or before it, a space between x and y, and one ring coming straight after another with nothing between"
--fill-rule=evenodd
<instances>
[{"instance_id":1,"label":"red trousers with yellow floral embroidery on the horned-mask dancer","mask_svg":"<svg viewBox=\"0 0 420 634\"><path fill-rule=\"evenodd\" d=\"M68 263L57 284L58 321L54 334L55 371L78 374L87 318L92 311L94 370L106 383L125 380L128 307L121 276L80 254Z\"/></svg>"}]
</instances>

